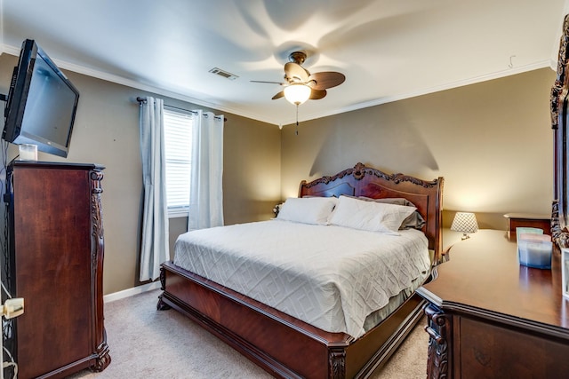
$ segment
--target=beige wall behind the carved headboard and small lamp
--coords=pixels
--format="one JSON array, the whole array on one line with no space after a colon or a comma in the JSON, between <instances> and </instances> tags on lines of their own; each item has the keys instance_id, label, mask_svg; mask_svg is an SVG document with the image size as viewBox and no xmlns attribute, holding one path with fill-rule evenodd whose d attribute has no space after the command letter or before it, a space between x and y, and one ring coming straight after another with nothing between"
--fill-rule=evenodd
<instances>
[{"instance_id":1,"label":"beige wall behind the carved headboard and small lamp","mask_svg":"<svg viewBox=\"0 0 569 379\"><path fill-rule=\"evenodd\" d=\"M445 178L444 223L474 211L506 229L508 212L550 213L549 68L301 122L282 135L282 195L299 181L364 162L388 173ZM379 85L379 84L378 84ZM323 100L325 101L325 100Z\"/></svg>"}]
</instances>

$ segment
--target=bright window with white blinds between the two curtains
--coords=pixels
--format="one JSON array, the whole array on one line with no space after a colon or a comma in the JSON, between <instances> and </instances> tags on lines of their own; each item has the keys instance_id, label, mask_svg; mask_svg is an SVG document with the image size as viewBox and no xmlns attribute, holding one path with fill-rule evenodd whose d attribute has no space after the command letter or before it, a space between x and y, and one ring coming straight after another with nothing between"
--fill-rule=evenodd
<instances>
[{"instance_id":1,"label":"bright window with white blinds between the two curtains","mask_svg":"<svg viewBox=\"0 0 569 379\"><path fill-rule=\"evenodd\" d=\"M191 112L164 107L164 157L169 217L188 216L193 124Z\"/></svg>"}]
</instances>

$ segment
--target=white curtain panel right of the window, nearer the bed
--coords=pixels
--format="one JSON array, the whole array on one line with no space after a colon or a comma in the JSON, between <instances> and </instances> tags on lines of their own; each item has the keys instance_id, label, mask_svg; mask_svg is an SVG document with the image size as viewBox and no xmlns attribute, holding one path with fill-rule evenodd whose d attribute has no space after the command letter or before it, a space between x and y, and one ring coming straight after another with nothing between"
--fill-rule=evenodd
<instances>
[{"instance_id":1,"label":"white curtain panel right of the window, nearer the bed","mask_svg":"<svg viewBox=\"0 0 569 379\"><path fill-rule=\"evenodd\" d=\"M193 128L188 231L223 225L223 115L197 111Z\"/></svg>"}]
</instances>

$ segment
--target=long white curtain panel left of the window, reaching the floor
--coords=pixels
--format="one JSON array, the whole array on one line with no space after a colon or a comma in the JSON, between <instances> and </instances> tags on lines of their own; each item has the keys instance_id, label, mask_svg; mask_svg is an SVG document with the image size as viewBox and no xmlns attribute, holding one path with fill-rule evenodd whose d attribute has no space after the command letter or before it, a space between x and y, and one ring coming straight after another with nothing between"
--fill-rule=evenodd
<instances>
[{"instance_id":1,"label":"long white curtain panel left of the window, reaching the floor","mask_svg":"<svg viewBox=\"0 0 569 379\"><path fill-rule=\"evenodd\" d=\"M140 281L156 280L170 259L164 164L164 100L140 103L140 158L144 185Z\"/></svg>"}]
</instances>

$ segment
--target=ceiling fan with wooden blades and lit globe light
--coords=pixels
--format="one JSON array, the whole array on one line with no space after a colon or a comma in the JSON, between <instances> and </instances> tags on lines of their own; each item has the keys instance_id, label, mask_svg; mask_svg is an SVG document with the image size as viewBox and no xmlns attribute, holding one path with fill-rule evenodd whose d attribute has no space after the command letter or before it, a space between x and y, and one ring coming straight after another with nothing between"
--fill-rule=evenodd
<instances>
[{"instance_id":1,"label":"ceiling fan with wooden blades and lit globe light","mask_svg":"<svg viewBox=\"0 0 569 379\"><path fill-rule=\"evenodd\" d=\"M284 83L264 82L252 80L253 83L276 83L284 86L284 90L278 92L272 99L285 98L296 106L301 105L308 99L317 100L326 96L328 88L344 83L346 76L334 71L324 71L310 74L309 70L302 67L307 55L304 51L293 51L288 56L288 62L284 64Z\"/></svg>"}]
</instances>

